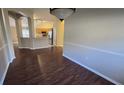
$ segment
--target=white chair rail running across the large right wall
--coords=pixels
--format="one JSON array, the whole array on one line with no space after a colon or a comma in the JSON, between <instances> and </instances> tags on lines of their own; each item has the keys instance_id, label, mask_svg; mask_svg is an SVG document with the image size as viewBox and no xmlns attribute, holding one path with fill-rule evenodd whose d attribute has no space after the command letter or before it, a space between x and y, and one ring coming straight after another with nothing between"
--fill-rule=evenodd
<instances>
[{"instance_id":1,"label":"white chair rail running across the large right wall","mask_svg":"<svg viewBox=\"0 0 124 93\"><path fill-rule=\"evenodd\" d=\"M113 52L113 51L109 51L109 50L99 49L99 48L95 48L95 47L92 47L92 46L80 45L80 44L75 44L75 43L71 43L71 42L65 42L65 45L72 45L72 46L87 48L87 49L95 50L95 51L98 51L98 52L103 52L103 53L108 53L108 54L118 55L118 56L123 56L124 57L123 53L118 53L118 52Z\"/></svg>"}]
</instances>

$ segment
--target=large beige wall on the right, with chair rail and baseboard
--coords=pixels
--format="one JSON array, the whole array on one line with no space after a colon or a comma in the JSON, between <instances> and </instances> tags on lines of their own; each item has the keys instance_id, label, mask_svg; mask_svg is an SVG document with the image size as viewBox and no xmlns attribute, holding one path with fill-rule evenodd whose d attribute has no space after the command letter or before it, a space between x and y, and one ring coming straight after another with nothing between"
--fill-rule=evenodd
<instances>
[{"instance_id":1,"label":"large beige wall on the right, with chair rail and baseboard","mask_svg":"<svg viewBox=\"0 0 124 93\"><path fill-rule=\"evenodd\" d=\"M77 9L65 20L64 56L124 84L124 9Z\"/></svg>"}]
</instances>

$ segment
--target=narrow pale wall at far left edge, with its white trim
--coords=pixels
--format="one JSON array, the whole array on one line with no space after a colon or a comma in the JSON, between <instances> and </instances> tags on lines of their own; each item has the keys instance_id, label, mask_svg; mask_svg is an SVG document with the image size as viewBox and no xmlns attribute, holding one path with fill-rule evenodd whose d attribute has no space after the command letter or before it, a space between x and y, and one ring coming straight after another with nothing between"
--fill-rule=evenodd
<instances>
[{"instance_id":1,"label":"narrow pale wall at far left edge, with its white trim","mask_svg":"<svg viewBox=\"0 0 124 93\"><path fill-rule=\"evenodd\" d=\"M9 63L15 58L6 9L0 9L0 84L3 84Z\"/></svg>"}]
</instances>

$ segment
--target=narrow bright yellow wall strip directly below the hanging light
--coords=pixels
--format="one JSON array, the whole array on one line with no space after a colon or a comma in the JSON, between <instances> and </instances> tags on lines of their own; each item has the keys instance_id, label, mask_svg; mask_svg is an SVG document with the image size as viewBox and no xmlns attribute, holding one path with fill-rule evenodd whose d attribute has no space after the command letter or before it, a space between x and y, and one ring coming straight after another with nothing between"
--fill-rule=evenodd
<instances>
[{"instance_id":1,"label":"narrow bright yellow wall strip directly below the hanging light","mask_svg":"<svg viewBox=\"0 0 124 93\"><path fill-rule=\"evenodd\" d=\"M57 46L63 46L63 42L64 42L64 20L61 22L58 22L58 26L57 26Z\"/></svg>"}]
</instances>

